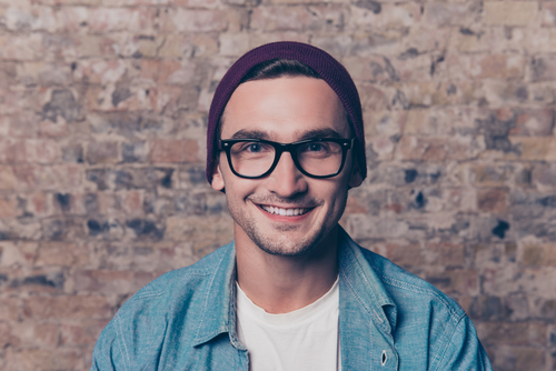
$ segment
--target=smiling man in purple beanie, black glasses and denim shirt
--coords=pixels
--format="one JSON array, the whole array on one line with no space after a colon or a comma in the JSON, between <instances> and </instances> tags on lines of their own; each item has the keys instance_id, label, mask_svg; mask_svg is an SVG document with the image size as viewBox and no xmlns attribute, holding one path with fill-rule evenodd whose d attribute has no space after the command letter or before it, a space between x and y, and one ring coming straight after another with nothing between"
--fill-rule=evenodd
<instances>
[{"instance_id":1,"label":"smiling man in purple beanie, black glasses and denim shirt","mask_svg":"<svg viewBox=\"0 0 556 371\"><path fill-rule=\"evenodd\" d=\"M367 167L357 89L334 58L297 42L241 57L207 148L234 242L129 299L91 370L490 370L454 300L338 225Z\"/></svg>"}]
</instances>

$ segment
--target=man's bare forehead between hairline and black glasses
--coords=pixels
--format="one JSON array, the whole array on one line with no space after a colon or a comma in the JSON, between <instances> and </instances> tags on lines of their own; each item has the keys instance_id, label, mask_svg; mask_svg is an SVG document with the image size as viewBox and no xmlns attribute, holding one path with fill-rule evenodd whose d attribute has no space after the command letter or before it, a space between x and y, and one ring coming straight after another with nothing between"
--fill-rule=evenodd
<instances>
[{"instance_id":1,"label":"man's bare forehead between hairline and black glasses","mask_svg":"<svg viewBox=\"0 0 556 371\"><path fill-rule=\"evenodd\" d=\"M281 77L240 84L226 106L220 131L224 139L246 130L267 132L269 138L295 138L328 129L342 138L350 133L344 106L328 83Z\"/></svg>"}]
</instances>

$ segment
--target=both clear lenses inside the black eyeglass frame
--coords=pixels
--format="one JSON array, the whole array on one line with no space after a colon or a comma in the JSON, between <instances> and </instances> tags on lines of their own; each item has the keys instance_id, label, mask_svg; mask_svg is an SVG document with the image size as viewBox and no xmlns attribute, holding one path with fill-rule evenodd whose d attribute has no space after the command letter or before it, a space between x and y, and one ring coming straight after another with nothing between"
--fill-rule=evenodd
<instances>
[{"instance_id":1,"label":"both clear lenses inside the black eyeglass frame","mask_svg":"<svg viewBox=\"0 0 556 371\"><path fill-rule=\"evenodd\" d=\"M236 142L229 153L234 170L244 177L262 176L270 170L276 158L276 149L264 142ZM298 146L294 156L307 173L326 177L339 171L344 151L340 143L315 141Z\"/></svg>"}]
</instances>

